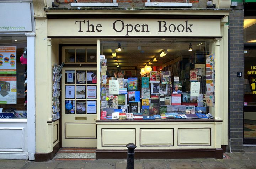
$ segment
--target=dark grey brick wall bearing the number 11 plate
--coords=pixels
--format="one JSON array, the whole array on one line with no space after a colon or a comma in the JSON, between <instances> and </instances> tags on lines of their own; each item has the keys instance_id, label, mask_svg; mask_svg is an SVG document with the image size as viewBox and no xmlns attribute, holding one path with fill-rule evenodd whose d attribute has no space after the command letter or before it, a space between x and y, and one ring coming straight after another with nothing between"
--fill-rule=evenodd
<instances>
[{"instance_id":1,"label":"dark grey brick wall bearing the number 11 plate","mask_svg":"<svg viewBox=\"0 0 256 169\"><path fill-rule=\"evenodd\" d=\"M238 6L234 7L229 15L230 138L232 151L243 151L244 78L236 77L236 72L244 72L243 19L243 4L238 3Z\"/></svg>"}]
</instances>

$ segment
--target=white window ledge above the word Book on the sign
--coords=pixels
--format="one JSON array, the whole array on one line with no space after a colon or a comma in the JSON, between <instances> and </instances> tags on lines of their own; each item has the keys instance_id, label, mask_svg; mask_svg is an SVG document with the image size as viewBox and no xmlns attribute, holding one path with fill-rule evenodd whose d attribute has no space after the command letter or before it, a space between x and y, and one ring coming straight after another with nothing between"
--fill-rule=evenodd
<instances>
[{"instance_id":1,"label":"white window ledge above the word Book on the sign","mask_svg":"<svg viewBox=\"0 0 256 169\"><path fill-rule=\"evenodd\" d=\"M192 3L176 3L176 2L160 2L160 3L156 3L156 2L146 2L145 3L145 7L176 7L176 8L191 8L192 7Z\"/></svg>"}]
</instances>

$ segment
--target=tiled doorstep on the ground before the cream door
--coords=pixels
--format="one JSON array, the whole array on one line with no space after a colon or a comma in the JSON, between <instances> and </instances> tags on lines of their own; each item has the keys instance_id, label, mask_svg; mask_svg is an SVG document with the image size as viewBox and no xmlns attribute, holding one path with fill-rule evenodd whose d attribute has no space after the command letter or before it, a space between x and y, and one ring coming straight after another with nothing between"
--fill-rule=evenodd
<instances>
[{"instance_id":1,"label":"tiled doorstep on the ground before the cream door","mask_svg":"<svg viewBox=\"0 0 256 169\"><path fill-rule=\"evenodd\" d=\"M55 160L95 160L96 148L61 148Z\"/></svg>"}]
</instances>

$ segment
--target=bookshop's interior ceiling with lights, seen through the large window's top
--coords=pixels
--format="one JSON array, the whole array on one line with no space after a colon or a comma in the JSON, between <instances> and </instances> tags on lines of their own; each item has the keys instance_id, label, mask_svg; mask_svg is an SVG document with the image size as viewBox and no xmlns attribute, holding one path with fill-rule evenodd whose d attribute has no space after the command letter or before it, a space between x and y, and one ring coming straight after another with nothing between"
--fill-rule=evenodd
<instances>
[{"instance_id":1,"label":"bookshop's interior ceiling with lights, seen through the large window's top","mask_svg":"<svg viewBox=\"0 0 256 169\"><path fill-rule=\"evenodd\" d=\"M118 43L122 51L118 51ZM193 51L188 51L192 43ZM199 45L200 44L200 45ZM208 41L207 44L209 45ZM108 66L117 66L111 51L115 50L119 66L144 67L149 61L150 66L163 66L177 57L189 58L196 51L204 51L205 40L174 40L174 39L136 39L136 40L102 40L103 55L107 58ZM209 49L209 46L207 47ZM160 53L168 50L167 55L159 57ZM157 57L158 61L153 62Z\"/></svg>"}]
</instances>

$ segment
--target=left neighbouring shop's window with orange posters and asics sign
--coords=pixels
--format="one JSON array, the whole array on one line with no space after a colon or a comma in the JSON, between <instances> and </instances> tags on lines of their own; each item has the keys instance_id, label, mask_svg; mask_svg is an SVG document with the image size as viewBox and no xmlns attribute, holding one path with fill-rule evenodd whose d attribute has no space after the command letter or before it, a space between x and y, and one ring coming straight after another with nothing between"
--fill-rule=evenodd
<instances>
[{"instance_id":1,"label":"left neighbouring shop's window with orange posters and asics sign","mask_svg":"<svg viewBox=\"0 0 256 169\"><path fill-rule=\"evenodd\" d=\"M0 118L27 118L26 37L0 37Z\"/></svg>"}]
</instances>

